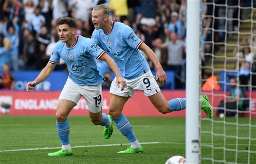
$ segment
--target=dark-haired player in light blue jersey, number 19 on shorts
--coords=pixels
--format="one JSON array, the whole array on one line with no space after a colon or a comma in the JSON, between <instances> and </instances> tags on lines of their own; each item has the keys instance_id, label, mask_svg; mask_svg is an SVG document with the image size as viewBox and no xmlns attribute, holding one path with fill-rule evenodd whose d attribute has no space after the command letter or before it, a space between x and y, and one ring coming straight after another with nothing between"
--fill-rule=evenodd
<instances>
[{"instance_id":1,"label":"dark-haired player in light blue jersey, number 19 on shorts","mask_svg":"<svg viewBox=\"0 0 256 164\"><path fill-rule=\"evenodd\" d=\"M102 82L103 77L99 74L96 59L104 60L116 74L116 83L126 86L121 77L116 63L95 44L90 38L76 35L76 21L73 18L61 18L58 20L58 35L60 41L53 48L52 56L48 64L39 73L34 81L27 84L28 91L33 90L37 84L48 78L62 58L69 71L68 80L59 95L56 111L57 132L62 142L60 151L49 153L49 156L72 155L69 143L69 121L67 119L72 108L76 106L81 96L85 98L89 108L89 116L95 125L111 126L112 120L102 113Z\"/></svg>"}]
</instances>

